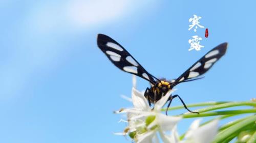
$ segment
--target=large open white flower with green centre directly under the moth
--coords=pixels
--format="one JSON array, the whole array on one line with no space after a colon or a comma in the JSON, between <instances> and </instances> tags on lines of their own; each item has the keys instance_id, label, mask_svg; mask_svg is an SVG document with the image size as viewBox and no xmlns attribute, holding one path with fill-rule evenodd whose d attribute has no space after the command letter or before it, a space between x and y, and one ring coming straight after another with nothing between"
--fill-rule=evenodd
<instances>
[{"instance_id":1,"label":"large open white flower with green centre directly under the moth","mask_svg":"<svg viewBox=\"0 0 256 143\"><path fill-rule=\"evenodd\" d=\"M133 80L132 102L134 107L123 109L121 112L127 113L128 127L125 128L125 134L129 134L137 143L159 142L157 132L159 132L164 142L170 142L170 138L166 137L165 131L171 131L182 117L171 117L161 113L161 109L168 100L169 91L159 101L156 102L152 110L148 105L144 94L135 88L136 80Z\"/></svg>"}]
</instances>

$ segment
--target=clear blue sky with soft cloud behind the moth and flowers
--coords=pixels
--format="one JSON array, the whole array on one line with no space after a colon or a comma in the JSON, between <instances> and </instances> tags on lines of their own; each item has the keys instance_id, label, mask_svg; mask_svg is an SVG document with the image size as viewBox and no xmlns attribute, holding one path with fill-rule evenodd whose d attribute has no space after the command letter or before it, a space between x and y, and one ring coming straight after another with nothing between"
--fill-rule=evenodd
<instances>
[{"instance_id":1,"label":"clear blue sky with soft cloud behind the moth and flowers","mask_svg":"<svg viewBox=\"0 0 256 143\"><path fill-rule=\"evenodd\" d=\"M256 80L254 6L254 1L1 1L0 142L130 142L113 135L125 126L113 110L131 106L120 95L131 95L132 76L98 49L98 33L118 41L151 74L169 79L228 42L226 55L205 78L178 85L176 94L186 103L250 100ZM209 30L207 39L204 29L196 33L203 38L201 51L188 51L193 14ZM142 79L137 84L139 90L149 85Z\"/></svg>"}]
</instances>

